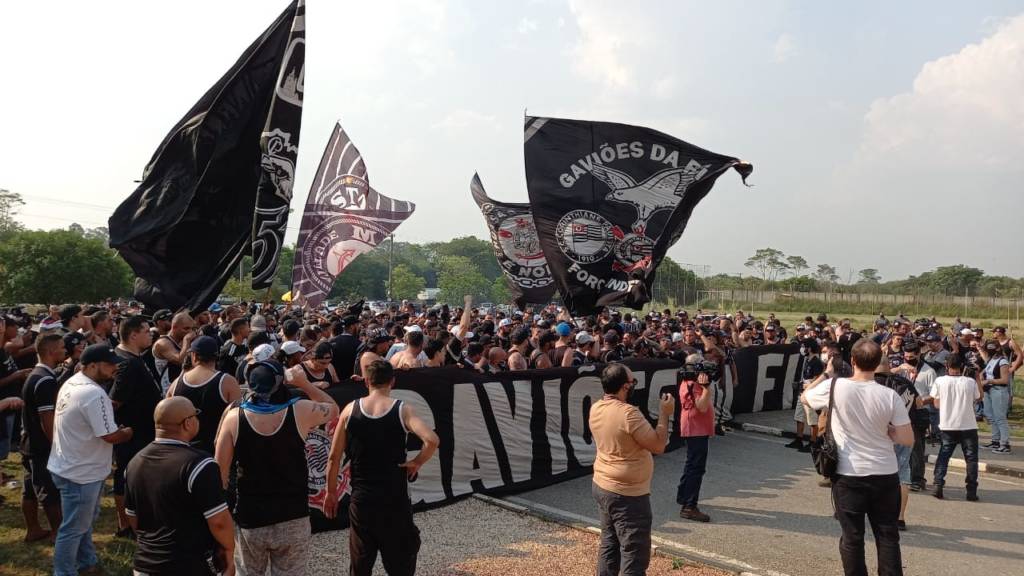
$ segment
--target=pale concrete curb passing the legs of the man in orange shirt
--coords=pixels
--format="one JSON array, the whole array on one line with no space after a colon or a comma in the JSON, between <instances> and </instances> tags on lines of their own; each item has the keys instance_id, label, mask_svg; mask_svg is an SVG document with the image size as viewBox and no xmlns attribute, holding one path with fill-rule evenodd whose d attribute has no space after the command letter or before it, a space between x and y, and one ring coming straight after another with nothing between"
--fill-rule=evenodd
<instances>
[{"instance_id":1,"label":"pale concrete curb passing the legs of the man in orange shirt","mask_svg":"<svg viewBox=\"0 0 1024 576\"><path fill-rule=\"evenodd\" d=\"M515 496L496 498L485 494L473 494L473 497L507 510L529 515L547 522L560 524L567 528L581 530L583 532L590 532L597 535L601 534L601 529L594 526L596 522L594 519L588 519L566 510L559 510L544 504L523 500ZM783 574L781 572L760 570L744 562L729 559L727 557L719 557L713 552L705 552L703 550L698 550L653 534L651 535L651 553L670 559L679 559L689 564L708 566L728 572L735 576L788 576L787 574Z\"/></svg>"}]
</instances>

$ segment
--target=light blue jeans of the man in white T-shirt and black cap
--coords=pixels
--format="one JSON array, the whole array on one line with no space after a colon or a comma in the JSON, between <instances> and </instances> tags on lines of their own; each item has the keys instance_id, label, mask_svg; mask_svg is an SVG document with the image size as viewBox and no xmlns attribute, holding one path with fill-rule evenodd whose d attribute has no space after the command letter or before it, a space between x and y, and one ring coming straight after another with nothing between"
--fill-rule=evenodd
<instances>
[{"instance_id":1,"label":"light blue jeans of the man in white T-shirt and black cap","mask_svg":"<svg viewBox=\"0 0 1024 576\"><path fill-rule=\"evenodd\" d=\"M53 576L77 576L79 570L99 562L92 544L92 526L99 518L103 481L78 484L55 474L51 477L60 491L60 510L63 513L53 544Z\"/></svg>"}]
</instances>

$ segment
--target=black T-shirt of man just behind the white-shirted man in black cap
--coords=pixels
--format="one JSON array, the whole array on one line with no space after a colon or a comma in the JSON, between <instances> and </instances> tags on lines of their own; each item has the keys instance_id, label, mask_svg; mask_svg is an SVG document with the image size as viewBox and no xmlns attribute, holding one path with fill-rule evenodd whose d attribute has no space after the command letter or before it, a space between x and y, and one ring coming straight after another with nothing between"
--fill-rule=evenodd
<instances>
[{"instance_id":1,"label":"black T-shirt of man just behind the white-shirted man in black cap","mask_svg":"<svg viewBox=\"0 0 1024 576\"><path fill-rule=\"evenodd\" d=\"M131 444L141 447L157 437L153 411L164 395L140 357L124 348L114 352L121 358L111 387L111 400L121 403L114 411L114 419L118 424L131 426L134 433Z\"/></svg>"}]
</instances>

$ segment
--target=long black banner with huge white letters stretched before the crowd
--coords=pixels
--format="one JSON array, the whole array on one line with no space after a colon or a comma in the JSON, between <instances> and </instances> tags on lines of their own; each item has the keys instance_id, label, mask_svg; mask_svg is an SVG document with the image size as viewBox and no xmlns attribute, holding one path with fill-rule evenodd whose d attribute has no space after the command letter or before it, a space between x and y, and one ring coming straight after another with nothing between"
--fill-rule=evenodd
<instances>
[{"instance_id":1,"label":"long black banner with huge white letters stretched before the crowd","mask_svg":"<svg viewBox=\"0 0 1024 576\"><path fill-rule=\"evenodd\" d=\"M796 370L797 344L756 346L734 355L737 381L730 371L720 384L733 413L788 407ZM637 378L630 402L656 420L658 398L678 398L678 362L627 361ZM553 368L501 374L474 374L456 368L396 372L392 396L408 404L440 438L440 447L410 484L413 503L424 507L473 492L501 494L549 486L590 474L595 446L588 423L590 406L601 400L601 366ZM361 383L347 382L328 390L340 406L366 395ZM669 449L681 443L679 404L670 422ZM342 510L329 521L322 510L327 490L327 457L334 434L310 434L309 505L314 530L347 526L345 489L348 466L339 471ZM410 437L410 457L419 442Z\"/></svg>"}]
</instances>

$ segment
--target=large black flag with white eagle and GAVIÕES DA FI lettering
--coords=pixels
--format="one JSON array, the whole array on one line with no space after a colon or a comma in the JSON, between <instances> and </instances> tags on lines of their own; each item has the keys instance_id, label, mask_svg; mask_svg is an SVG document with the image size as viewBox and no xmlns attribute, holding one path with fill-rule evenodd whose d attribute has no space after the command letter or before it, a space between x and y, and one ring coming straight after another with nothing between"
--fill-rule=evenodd
<instances>
[{"instance_id":1,"label":"large black flag with white eagle and GAVI\u00d5ES DA FI lettering","mask_svg":"<svg viewBox=\"0 0 1024 576\"><path fill-rule=\"evenodd\" d=\"M526 187L541 247L574 316L641 308L654 271L716 178L753 170L626 124L526 118Z\"/></svg>"}]
</instances>

